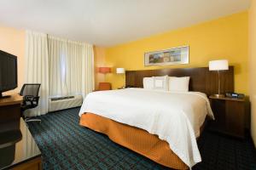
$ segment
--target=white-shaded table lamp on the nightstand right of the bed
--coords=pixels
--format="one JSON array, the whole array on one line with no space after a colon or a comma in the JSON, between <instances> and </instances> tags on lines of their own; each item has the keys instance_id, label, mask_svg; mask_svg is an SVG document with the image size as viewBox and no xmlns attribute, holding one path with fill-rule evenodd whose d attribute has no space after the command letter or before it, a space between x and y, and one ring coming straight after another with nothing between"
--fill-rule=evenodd
<instances>
[{"instance_id":1,"label":"white-shaded table lamp on the nightstand right of the bed","mask_svg":"<svg viewBox=\"0 0 256 170\"><path fill-rule=\"evenodd\" d=\"M213 94L217 98L224 97L224 94L220 94L220 71L229 70L229 61L227 59L212 60L209 62L209 71L218 71L218 94Z\"/></svg>"}]
</instances>

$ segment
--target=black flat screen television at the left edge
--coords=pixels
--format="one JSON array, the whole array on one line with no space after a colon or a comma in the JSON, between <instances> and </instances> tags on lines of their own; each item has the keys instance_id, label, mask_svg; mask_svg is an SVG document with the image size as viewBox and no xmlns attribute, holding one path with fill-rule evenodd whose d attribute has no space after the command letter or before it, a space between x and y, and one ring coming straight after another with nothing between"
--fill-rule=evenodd
<instances>
[{"instance_id":1,"label":"black flat screen television at the left edge","mask_svg":"<svg viewBox=\"0 0 256 170\"><path fill-rule=\"evenodd\" d=\"M5 97L3 92L17 88L17 84L17 57L0 50L0 99Z\"/></svg>"}]
</instances>

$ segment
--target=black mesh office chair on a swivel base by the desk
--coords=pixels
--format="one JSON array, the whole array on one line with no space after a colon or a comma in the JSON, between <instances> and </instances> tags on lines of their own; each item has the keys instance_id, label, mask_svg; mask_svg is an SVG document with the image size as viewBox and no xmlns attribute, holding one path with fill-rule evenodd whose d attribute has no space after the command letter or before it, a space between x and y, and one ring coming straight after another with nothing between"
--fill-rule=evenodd
<instances>
[{"instance_id":1,"label":"black mesh office chair on a swivel base by the desk","mask_svg":"<svg viewBox=\"0 0 256 170\"><path fill-rule=\"evenodd\" d=\"M36 118L26 118L24 116L24 111L32 109L38 106L39 101L39 89L41 84L24 84L20 90L20 95L23 96L23 103L21 104L22 117L25 122L41 122L40 119Z\"/></svg>"}]
</instances>

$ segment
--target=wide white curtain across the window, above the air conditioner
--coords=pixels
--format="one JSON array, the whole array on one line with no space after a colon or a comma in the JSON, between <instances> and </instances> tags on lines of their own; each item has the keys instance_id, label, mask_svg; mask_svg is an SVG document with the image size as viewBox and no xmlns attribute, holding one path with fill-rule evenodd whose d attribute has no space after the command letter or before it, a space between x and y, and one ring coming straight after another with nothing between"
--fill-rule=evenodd
<instances>
[{"instance_id":1,"label":"wide white curtain across the window, above the air conditioner","mask_svg":"<svg viewBox=\"0 0 256 170\"><path fill-rule=\"evenodd\" d=\"M50 96L85 96L94 89L92 45L49 36L48 47Z\"/></svg>"}]
</instances>

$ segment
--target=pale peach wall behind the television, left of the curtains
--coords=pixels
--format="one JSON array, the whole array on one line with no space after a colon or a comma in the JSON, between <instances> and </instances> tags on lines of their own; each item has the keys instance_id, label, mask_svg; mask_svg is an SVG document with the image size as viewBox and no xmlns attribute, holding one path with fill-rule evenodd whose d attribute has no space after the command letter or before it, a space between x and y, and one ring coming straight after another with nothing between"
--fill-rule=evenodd
<instances>
[{"instance_id":1,"label":"pale peach wall behind the television, left of the curtains","mask_svg":"<svg viewBox=\"0 0 256 170\"><path fill-rule=\"evenodd\" d=\"M0 26L0 50L18 58L18 88L15 92L20 92L24 83L25 31Z\"/></svg>"}]
</instances>

